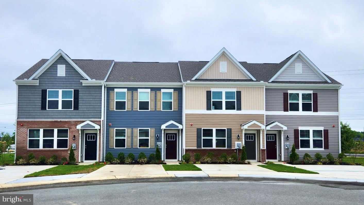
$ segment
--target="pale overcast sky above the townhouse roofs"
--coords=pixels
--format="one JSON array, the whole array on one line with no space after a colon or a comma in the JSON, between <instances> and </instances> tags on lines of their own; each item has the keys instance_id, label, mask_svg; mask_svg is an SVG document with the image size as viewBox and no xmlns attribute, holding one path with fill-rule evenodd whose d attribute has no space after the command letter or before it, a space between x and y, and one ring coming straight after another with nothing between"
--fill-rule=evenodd
<instances>
[{"instance_id":1,"label":"pale overcast sky above the townhouse roofs","mask_svg":"<svg viewBox=\"0 0 364 205\"><path fill-rule=\"evenodd\" d=\"M249 63L279 63L301 50L322 71L362 69L327 72L344 84L341 118L362 131L363 10L361 1L332 0L3 0L0 104L15 103L12 80L58 49L72 59L177 62L208 61L225 47ZM13 132L13 123L15 106L0 105L0 131Z\"/></svg>"}]
</instances>

